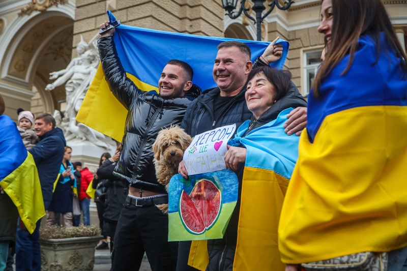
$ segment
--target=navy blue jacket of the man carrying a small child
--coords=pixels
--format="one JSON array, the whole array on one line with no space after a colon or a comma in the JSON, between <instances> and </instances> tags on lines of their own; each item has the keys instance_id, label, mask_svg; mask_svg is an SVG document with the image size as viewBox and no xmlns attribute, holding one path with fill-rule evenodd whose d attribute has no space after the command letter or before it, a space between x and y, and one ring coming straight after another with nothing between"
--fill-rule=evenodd
<instances>
[{"instance_id":1,"label":"navy blue jacket of the man carrying a small child","mask_svg":"<svg viewBox=\"0 0 407 271\"><path fill-rule=\"evenodd\" d=\"M40 136L40 142L28 150L38 169L44 202L49 203L52 199L53 184L60 173L65 145L64 133L60 128L54 128Z\"/></svg>"}]
</instances>

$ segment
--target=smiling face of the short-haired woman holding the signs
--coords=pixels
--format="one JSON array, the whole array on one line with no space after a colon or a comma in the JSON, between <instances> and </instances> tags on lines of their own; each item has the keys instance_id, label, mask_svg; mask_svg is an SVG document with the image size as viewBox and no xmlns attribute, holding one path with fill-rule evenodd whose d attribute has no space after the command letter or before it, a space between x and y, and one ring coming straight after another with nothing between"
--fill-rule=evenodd
<instances>
[{"instance_id":1,"label":"smiling face of the short-haired woman holding the signs","mask_svg":"<svg viewBox=\"0 0 407 271\"><path fill-rule=\"evenodd\" d=\"M247 83L246 103L256 119L274 104L275 94L274 85L263 72L254 75Z\"/></svg>"}]
</instances>

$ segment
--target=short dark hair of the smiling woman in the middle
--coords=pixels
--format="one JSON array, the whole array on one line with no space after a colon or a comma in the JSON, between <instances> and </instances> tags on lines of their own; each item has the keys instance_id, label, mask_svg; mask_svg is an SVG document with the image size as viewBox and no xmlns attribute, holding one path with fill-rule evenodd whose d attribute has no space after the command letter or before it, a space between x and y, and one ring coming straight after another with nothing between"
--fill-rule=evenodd
<instances>
[{"instance_id":1,"label":"short dark hair of the smiling woman in the middle","mask_svg":"<svg viewBox=\"0 0 407 271\"><path fill-rule=\"evenodd\" d=\"M291 84L291 73L289 71L281 71L270 66L261 66L256 67L249 73L247 82L249 82L256 74L263 73L270 83L273 84L276 95L273 97L273 100L280 100L283 98L289 89Z\"/></svg>"}]
</instances>

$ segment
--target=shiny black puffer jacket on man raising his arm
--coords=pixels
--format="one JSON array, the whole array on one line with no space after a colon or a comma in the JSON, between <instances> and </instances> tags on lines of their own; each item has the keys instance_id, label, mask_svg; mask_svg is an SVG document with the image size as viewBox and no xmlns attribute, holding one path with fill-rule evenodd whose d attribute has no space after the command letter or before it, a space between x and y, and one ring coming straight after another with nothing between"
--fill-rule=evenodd
<instances>
[{"instance_id":1,"label":"shiny black puffer jacket on man raising his arm","mask_svg":"<svg viewBox=\"0 0 407 271\"><path fill-rule=\"evenodd\" d=\"M123 148L114 174L133 187L165 194L164 186L157 182L152 145L162 128L181 124L188 105L199 96L200 88L193 85L187 96L168 100L156 92L144 93L127 78L112 37L103 37L98 44L110 91L129 110Z\"/></svg>"}]
</instances>

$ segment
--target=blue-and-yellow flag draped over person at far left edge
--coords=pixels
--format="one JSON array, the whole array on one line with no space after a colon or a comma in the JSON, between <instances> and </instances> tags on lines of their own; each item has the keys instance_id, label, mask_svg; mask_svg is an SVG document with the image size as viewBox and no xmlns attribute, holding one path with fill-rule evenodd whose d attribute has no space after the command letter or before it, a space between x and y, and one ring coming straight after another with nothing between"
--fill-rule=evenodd
<instances>
[{"instance_id":1,"label":"blue-and-yellow flag draped over person at far left edge","mask_svg":"<svg viewBox=\"0 0 407 271\"><path fill-rule=\"evenodd\" d=\"M27 230L33 233L36 222L45 216L40 178L16 124L6 115L0 115L0 165L0 186L17 206Z\"/></svg>"}]
</instances>

